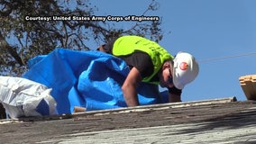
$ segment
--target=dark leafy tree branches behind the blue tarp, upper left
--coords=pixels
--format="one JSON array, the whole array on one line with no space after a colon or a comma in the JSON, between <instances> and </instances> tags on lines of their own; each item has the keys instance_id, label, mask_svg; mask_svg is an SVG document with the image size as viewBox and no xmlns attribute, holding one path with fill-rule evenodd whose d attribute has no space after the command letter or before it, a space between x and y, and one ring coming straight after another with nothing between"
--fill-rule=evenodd
<instances>
[{"instance_id":1,"label":"dark leafy tree branches behind the blue tarp, upper left","mask_svg":"<svg viewBox=\"0 0 256 144\"><path fill-rule=\"evenodd\" d=\"M158 9L158 3L151 1L149 11ZM97 7L87 0L1 0L0 1L0 73L21 76L26 70L28 59L48 54L61 47L88 50L87 40L97 44L124 34L136 34L161 40L159 21L137 21L131 28L123 30L108 21L53 21L53 16L72 18L90 17ZM27 20L30 17L50 17L50 21Z\"/></svg>"}]
</instances>

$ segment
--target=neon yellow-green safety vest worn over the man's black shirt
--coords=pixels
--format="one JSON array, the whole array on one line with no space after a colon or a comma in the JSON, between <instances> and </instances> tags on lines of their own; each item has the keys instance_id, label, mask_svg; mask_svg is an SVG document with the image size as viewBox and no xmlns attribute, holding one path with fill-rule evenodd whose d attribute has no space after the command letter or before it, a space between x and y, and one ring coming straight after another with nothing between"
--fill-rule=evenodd
<instances>
[{"instance_id":1,"label":"neon yellow-green safety vest worn over the man's black shirt","mask_svg":"<svg viewBox=\"0 0 256 144\"><path fill-rule=\"evenodd\" d=\"M143 77L143 82L149 82L152 84L159 84L159 82L151 82L151 78L155 76L164 61L172 59L166 49L160 47L157 42L148 40L139 36L123 36L114 41L113 55L116 57L127 56L132 54L135 50L141 50L146 52L152 60L154 70L151 76Z\"/></svg>"}]
</instances>

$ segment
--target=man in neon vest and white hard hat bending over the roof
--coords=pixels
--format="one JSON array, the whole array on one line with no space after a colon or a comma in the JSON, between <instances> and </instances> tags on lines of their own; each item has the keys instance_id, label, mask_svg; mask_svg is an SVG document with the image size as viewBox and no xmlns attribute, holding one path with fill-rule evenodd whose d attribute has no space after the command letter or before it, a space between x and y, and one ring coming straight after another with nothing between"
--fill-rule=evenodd
<instances>
[{"instance_id":1,"label":"man in neon vest and white hard hat bending over the roof","mask_svg":"<svg viewBox=\"0 0 256 144\"><path fill-rule=\"evenodd\" d=\"M167 87L169 102L181 102L182 89L197 77L199 71L192 55L178 52L173 57L158 43L139 36L122 36L97 50L122 58L130 67L122 85L128 106L139 105L136 88L141 82Z\"/></svg>"}]
</instances>

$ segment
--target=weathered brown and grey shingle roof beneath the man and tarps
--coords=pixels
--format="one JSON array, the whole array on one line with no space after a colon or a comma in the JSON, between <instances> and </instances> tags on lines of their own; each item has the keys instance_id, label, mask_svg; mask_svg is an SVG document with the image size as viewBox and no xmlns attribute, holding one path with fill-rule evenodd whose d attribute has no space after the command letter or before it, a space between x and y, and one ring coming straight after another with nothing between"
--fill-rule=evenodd
<instances>
[{"instance_id":1,"label":"weathered brown and grey shingle roof beneath the man and tarps","mask_svg":"<svg viewBox=\"0 0 256 144\"><path fill-rule=\"evenodd\" d=\"M0 121L4 143L255 143L256 103L234 97Z\"/></svg>"}]
</instances>

